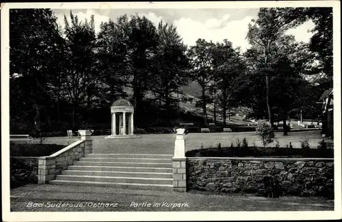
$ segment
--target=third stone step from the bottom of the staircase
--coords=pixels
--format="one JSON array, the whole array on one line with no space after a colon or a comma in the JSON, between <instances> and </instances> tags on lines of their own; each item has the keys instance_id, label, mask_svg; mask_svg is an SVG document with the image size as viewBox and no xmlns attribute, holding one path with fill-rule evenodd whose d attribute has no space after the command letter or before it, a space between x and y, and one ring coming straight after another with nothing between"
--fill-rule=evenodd
<instances>
[{"instance_id":1,"label":"third stone step from the bottom of the staircase","mask_svg":"<svg viewBox=\"0 0 342 222\"><path fill-rule=\"evenodd\" d=\"M147 172L125 172L125 171L81 171L64 170L63 175L77 176L110 176L110 177L137 177L137 178L172 178L172 173L147 173Z\"/></svg>"}]
</instances>

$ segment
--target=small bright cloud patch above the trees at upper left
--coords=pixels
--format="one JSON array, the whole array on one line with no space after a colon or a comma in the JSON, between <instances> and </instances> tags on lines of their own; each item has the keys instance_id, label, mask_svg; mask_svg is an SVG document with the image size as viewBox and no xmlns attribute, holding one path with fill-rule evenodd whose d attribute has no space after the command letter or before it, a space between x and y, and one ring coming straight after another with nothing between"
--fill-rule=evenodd
<instances>
[{"instance_id":1,"label":"small bright cloud patch above the trees at upper left","mask_svg":"<svg viewBox=\"0 0 342 222\"><path fill-rule=\"evenodd\" d=\"M101 22L105 23L108 22L109 17L102 15L102 14L98 14L98 12L95 12L94 10L87 10L86 12L77 12L75 13L75 15L77 15L77 17L79 18L79 21L82 21L84 23L84 21L87 19L88 23L90 22L90 17L92 15L94 15L94 26L95 26L95 32L98 33L98 31L100 31L100 25ZM64 14L57 14L57 23L60 23L60 25L62 25L62 27L65 26L64 24ZM70 20L70 14L67 13L66 14L66 18L68 19L69 24L71 23Z\"/></svg>"}]
</instances>

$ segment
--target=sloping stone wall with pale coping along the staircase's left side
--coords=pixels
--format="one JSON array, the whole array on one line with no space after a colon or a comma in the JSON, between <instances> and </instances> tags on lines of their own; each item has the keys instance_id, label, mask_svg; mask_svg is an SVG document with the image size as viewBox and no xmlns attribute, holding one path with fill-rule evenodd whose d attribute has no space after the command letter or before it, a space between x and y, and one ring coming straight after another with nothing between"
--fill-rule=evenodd
<instances>
[{"instance_id":1,"label":"sloping stone wall with pale coping along the staircase's left side","mask_svg":"<svg viewBox=\"0 0 342 222\"><path fill-rule=\"evenodd\" d=\"M92 153L92 140L79 140L50 156L38 157L38 183L47 183L55 179L55 175L73 165L74 161L85 154Z\"/></svg>"}]
</instances>

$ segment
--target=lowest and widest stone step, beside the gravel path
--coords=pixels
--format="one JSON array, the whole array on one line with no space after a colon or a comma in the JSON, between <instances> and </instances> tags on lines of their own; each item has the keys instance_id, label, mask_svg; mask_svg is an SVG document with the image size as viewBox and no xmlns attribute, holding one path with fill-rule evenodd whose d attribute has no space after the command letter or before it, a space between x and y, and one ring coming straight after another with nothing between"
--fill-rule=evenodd
<instances>
[{"instance_id":1,"label":"lowest and widest stone step, beside the gravel path","mask_svg":"<svg viewBox=\"0 0 342 222\"><path fill-rule=\"evenodd\" d=\"M121 182L93 182L93 181L75 181L75 180L51 180L50 184L59 185L77 185L77 186L110 186L119 189L139 189L139 190L159 190L172 191L172 184L133 184Z\"/></svg>"}]
</instances>

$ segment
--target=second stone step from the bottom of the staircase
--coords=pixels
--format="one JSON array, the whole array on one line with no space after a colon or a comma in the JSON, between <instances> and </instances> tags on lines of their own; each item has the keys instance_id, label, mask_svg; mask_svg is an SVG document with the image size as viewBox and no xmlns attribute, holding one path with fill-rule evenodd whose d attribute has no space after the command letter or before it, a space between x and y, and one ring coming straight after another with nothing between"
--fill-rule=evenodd
<instances>
[{"instance_id":1,"label":"second stone step from the bottom of the staircase","mask_svg":"<svg viewBox=\"0 0 342 222\"><path fill-rule=\"evenodd\" d=\"M77 175L57 175L56 180L72 181L93 181L93 182L120 182L133 184L169 184L172 185L172 178L134 178L119 176L77 176Z\"/></svg>"}]
</instances>

